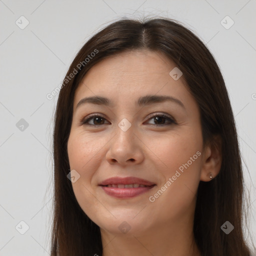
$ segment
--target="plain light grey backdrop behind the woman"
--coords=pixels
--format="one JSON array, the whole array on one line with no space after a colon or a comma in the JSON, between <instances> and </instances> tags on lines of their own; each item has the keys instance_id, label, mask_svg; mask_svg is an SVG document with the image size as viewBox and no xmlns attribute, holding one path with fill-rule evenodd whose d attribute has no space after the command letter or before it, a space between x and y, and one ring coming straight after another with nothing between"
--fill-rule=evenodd
<instances>
[{"instance_id":1,"label":"plain light grey backdrop behind the woman","mask_svg":"<svg viewBox=\"0 0 256 256\"><path fill-rule=\"evenodd\" d=\"M0 255L49 255L57 95L46 95L84 42L122 16L180 20L215 56L247 166L243 162L255 243L255 13L256 0L0 0Z\"/></svg>"}]
</instances>

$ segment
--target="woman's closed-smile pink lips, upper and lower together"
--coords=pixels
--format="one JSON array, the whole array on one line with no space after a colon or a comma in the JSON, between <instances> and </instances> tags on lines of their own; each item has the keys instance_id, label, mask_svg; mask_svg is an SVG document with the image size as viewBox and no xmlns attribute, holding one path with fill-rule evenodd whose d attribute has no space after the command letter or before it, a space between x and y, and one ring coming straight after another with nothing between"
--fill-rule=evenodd
<instances>
[{"instance_id":1,"label":"woman's closed-smile pink lips, upper and lower together","mask_svg":"<svg viewBox=\"0 0 256 256\"><path fill-rule=\"evenodd\" d=\"M118 188L118 187L108 187L109 184L141 184L145 185L143 187L128 187L128 188ZM149 191L156 184L137 177L111 177L107 178L99 184L104 192L115 198L132 198L142 193Z\"/></svg>"}]
</instances>

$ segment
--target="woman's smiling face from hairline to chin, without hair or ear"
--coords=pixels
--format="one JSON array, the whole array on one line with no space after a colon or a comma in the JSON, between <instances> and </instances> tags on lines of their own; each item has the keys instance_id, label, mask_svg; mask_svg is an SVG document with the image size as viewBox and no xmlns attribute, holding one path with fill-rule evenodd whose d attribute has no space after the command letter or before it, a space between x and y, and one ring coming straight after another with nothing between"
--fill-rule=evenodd
<instances>
[{"instance_id":1,"label":"woman's smiling face from hairline to chin, without hair or ear","mask_svg":"<svg viewBox=\"0 0 256 256\"><path fill-rule=\"evenodd\" d=\"M175 66L159 52L124 52L93 66L75 91L67 144L72 187L101 230L145 232L193 218L200 114ZM80 101L96 96L106 99Z\"/></svg>"}]
</instances>

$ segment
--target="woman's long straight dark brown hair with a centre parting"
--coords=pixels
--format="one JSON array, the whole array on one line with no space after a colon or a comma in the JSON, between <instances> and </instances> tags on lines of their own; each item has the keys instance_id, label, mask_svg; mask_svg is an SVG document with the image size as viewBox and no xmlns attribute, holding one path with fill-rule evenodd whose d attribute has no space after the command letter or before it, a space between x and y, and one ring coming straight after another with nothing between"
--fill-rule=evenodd
<instances>
[{"instance_id":1,"label":"woman's long straight dark brown hair with a centre parting","mask_svg":"<svg viewBox=\"0 0 256 256\"><path fill-rule=\"evenodd\" d=\"M234 117L219 67L203 42L179 21L169 18L122 18L101 29L79 50L59 92L53 133L54 199L51 256L102 255L99 227L80 208L69 173L67 140L74 92L86 72L102 59L132 49L161 52L182 71L198 103L203 142L222 139L219 174L200 181L193 232L202 256L249 256L242 231L243 176ZM92 52L94 52L92 54ZM71 77L71 73L73 73ZM71 78L70 78L71 77ZM225 234L228 220L234 229Z\"/></svg>"}]
</instances>

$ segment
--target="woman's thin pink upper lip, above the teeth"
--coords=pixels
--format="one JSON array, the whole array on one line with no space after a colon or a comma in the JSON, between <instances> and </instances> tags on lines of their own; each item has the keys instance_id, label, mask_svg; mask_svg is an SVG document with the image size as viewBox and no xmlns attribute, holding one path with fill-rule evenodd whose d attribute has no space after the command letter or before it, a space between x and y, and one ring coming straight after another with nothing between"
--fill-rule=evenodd
<instances>
[{"instance_id":1,"label":"woman's thin pink upper lip, above the teeth","mask_svg":"<svg viewBox=\"0 0 256 256\"><path fill-rule=\"evenodd\" d=\"M109 185L109 184L141 184L141 185L146 185L146 186L151 186L155 185L155 183L142 179L142 178L137 178L137 177L110 177L102 182L99 183L99 185Z\"/></svg>"}]
</instances>

